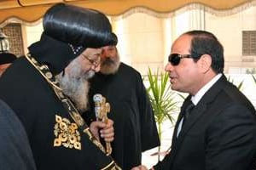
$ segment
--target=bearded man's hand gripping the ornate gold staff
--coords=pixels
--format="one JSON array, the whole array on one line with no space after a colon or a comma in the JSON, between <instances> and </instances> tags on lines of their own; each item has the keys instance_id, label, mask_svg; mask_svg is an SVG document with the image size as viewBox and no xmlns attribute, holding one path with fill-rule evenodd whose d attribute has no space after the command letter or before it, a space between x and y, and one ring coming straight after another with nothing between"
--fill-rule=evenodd
<instances>
[{"instance_id":1,"label":"bearded man's hand gripping the ornate gold staff","mask_svg":"<svg viewBox=\"0 0 256 170\"><path fill-rule=\"evenodd\" d=\"M105 140L105 142L112 142L113 141L113 121L108 119L107 124L99 121L91 122L90 123L90 132L99 139L99 132L101 138Z\"/></svg>"}]
</instances>

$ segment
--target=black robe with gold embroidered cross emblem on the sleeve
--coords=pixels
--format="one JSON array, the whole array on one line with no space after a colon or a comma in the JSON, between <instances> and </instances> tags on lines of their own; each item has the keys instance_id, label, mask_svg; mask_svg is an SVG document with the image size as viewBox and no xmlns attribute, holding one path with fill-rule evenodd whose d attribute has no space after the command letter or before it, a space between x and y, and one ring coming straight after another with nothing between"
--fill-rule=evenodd
<instances>
[{"instance_id":1,"label":"black robe with gold embroidered cross emblem on the sleeve","mask_svg":"<svg viewBox=\"0 0 256 170\"><path fill-rule=\"evenodd\" d=\"M79 129L49 82L25 57L1 77L0 99L25 127L38 170L97 170L113 163Z\"/></svg>"}]
</instances>

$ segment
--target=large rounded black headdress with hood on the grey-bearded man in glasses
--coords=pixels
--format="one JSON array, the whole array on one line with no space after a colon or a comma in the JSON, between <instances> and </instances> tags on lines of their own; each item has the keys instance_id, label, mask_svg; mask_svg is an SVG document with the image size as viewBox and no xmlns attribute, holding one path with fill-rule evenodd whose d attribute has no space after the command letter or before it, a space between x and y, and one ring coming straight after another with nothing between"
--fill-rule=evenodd
<instances>
[{"instance_id":1,"label":"large rounded black headdress with hood on the grey-bearded man in glasses","mask_svg":"<svg viewBox=\"0 0 256 170\"><path fill-rule=\"evenodd\" d=\"M101 48L112 41L108 18L99 11L57 3L44 14L44 32L29 53L58 74L85 48Z\"/></svg>"}]
</instances>

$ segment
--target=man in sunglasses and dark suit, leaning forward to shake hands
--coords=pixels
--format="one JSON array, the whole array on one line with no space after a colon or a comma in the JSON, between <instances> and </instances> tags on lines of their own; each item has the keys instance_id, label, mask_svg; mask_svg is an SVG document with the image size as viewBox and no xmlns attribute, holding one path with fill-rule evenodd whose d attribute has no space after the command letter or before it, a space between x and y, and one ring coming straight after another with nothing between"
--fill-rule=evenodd
<instances>
[{"instance_id":1,"label":"man in sunglasses and dark suit, leaning forward to shake hands","mask_svg":"<svg viewBox=\"0 0 256 170\"><path fill-rule=\"evenodd\" d=\"M253 169L255 110L224 76L218 39L207 31L186 32L173 43L168 61L172 89L189 96L177 118L171 152L152 169ZM185 113L190 101L195 106Z\"/></svg>"}]
</instances>

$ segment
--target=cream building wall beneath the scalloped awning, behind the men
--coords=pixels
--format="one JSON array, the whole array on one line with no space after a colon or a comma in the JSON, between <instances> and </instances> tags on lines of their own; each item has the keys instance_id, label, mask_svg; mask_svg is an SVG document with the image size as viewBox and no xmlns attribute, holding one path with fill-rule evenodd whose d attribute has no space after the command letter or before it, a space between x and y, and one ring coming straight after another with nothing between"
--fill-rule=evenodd
<instances>
[{"instance_id":1,"label":"cream building wall beneath the scalloped awning, behind the men","mask_svg":"<svg viewBox=\"0 0 256 170\"><path fill-rule=\"evenodd\" d=\"M247 68L256 67L255 56L241 56L241 31L256 30L255 6L230 14L192 8L166 17L137 12L124 17L109 16L109 19L119 37L121 60L143 75L147 74L148 67L164 71L173 40L184 31L194 29L212 31L223 43L226 73L243 73ZM41 32L41 24L26 26L27 45L37 41ZM254 59L254 62L242 59Z\"/></svg>"}]
</instances>

